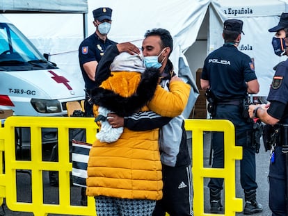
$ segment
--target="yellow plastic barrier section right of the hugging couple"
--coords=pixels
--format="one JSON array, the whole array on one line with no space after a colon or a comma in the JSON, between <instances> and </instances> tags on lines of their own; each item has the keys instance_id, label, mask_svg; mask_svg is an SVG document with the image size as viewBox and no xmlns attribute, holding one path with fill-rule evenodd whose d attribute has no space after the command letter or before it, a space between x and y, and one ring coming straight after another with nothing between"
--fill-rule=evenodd
<instances>
[{"instance_id":1,"label":"yellow plastic barrier section right of the hugging couple","mask_svg":"<svg viewBox=\"0 0 288 216\"><path fill-rule=\"evenodd\" d=\"M194 215L210 216L204 213L204 178L224 178L225 183L225 214L235 215L243 208L242 199L235 197L235 160L242 158L241 147L236 147L234 125L227 120L186 119L186 131L192 131L192 173L193 173L193 210ZM203 165L204 132L224 132L224 168L208 168ZM221 214L217 214L221 215Z\"/></svg>"}]
</instances>

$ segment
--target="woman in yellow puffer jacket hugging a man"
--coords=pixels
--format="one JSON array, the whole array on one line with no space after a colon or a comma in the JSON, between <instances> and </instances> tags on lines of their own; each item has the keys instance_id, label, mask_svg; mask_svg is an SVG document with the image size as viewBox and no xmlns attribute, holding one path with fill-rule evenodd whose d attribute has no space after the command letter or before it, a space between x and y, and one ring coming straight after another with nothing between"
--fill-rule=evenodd
<instances>
[{"instance_id":1,"label":"woman in yellow puffer jacket hugging a man","mask_svg":"<svg viewBox=\"0 0 288 216\"><path fill-rule=\"evenodd\" d=\"M167 92L158 85L159 70L145 69L138 55L120 53L111 64L111 75L92 92L97 105L93 109L95 116L98 106L103 106L120 116L152 110L175 117L182 113L189 98L190 85L175 77ZM136 205L134 210L152 214L156 200L162 198L163 187L158 139L158 128L124 128L115 142L95 140L88 161L86 194L95 197L98 216L109 215L107 208L111 215L125 215L120 210L122 205L126 206L124 211L127 205Z\"/></svg>"}]
</instances>

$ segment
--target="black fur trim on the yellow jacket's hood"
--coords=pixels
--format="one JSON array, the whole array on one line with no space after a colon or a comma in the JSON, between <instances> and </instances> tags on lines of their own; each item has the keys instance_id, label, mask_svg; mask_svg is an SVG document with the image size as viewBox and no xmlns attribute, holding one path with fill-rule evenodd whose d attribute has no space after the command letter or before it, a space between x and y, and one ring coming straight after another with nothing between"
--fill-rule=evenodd
<instances>
[{"instance_id":1,"label":"black fur trim on the yellow jacket's hood","mask_svg":"<svg viewBox=\"0 0 288 216\"><path fill-rule=\"evenodd\" d=\"M159 69L146 69L141 74L141 81L138 83L136 91L129 97L122 97L120 94L102 87L94 88L90 94L95 105L103 106L122 117L129 116L138 112L153 98L159 83L159 76Z\"/></svg>"}]
</instances>

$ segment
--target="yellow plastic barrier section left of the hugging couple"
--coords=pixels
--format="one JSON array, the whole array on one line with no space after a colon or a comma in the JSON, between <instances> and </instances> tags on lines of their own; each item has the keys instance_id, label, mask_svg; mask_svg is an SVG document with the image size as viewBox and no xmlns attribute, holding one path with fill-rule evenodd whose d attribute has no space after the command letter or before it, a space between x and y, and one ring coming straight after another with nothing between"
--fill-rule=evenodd
<instances>
[{"instance_id":1,"label":"yellow plastic barrier section left of the hugging couple","mask_svg":"<svg viewBox=\"0 0 288 216\"><path fill-rule=\"evenodd\" d=\"M94 118L83 117L8 117L1 128L0 138L4 138L5 178L0 185L6 186L6 204L10 210L31 212L35 216L48 213L63 215L96 215L95 200L88 197L88 206L70 205L69 128L86 128L87 142L93 143L97 126ZM31 161L15 158L15 127L31 128ZM42 161L41 128L58 128L58 162ZM31 170L32 202L17 202L16 170ZM56 170L59 174L59 204L43 201L42 172Z\"/></svg>"}]
</instances>

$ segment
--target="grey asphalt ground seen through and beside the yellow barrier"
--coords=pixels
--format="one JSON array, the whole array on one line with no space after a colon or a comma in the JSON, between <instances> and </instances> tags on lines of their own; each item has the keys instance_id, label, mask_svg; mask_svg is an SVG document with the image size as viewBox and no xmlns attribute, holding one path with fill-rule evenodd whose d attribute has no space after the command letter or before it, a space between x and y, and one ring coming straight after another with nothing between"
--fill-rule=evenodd
<instances>
[{"instance_id":1,"label":"grey asphalt ground seen through and beside the yellow barrier","mask_svg":"<svg viewBox=\"0 0 288 216\"><path fill-rule=\"evenodd\" d=\"M205 167L209 167L209 152L210 152L210 138L211 135L206 133L204 135L204 164ZM191 141L190 141L191 142ZM191 149L190 149L191 151ZM29 157L25 151L22 152L23 157ZM47 149L43 152L44 160L49 160L51 156L51 147L47 147ZM243 190L239 181L239 161L236 162L236 197L242 198L244 197ZM264 151L264 146L262 145L259 153L256 155L256 165L257 165L257 201L262 204L263 211L262 213L257 213L255 215L268 216L271 215L271 210L269 210L268 203L268 194L269 194L269 183L267 181L267 176L269 173L269 152ZM18 201L31 202L31 183L30 176L25 172L17 172L17 199ZM205 178L205 213L209 213L209 188L207 187L207 183L209 178ZM49 185L49 174L48 172L43 173L43 193L44 193L44 201L45 203L58 203L58 187L54 187ZM222 194L223 197L223 194ZM72 205L80 205L81 192L80 188L76 186L72 186L71 188L71 204ZM243 205L244 205L243 201ZM224 206L224 203L223 203ZM244 207L244 206L243 206ZM4 211L3 211L4 210ZM33 213L24 213L24 212L13 212L7 208L5 205L5 200L2 208L0 208L0 215L6 216L33 216ZM236 213L237 216L242 216L243 213ZM57 216L54 214L48 214L48 216ZM70 215L66 215L70 216ZM72 215L71 215L72 216ZM179 215L181 216L181 215ZM197 215L195 215L197 216Z\"/></svg>"}]
</instances>

